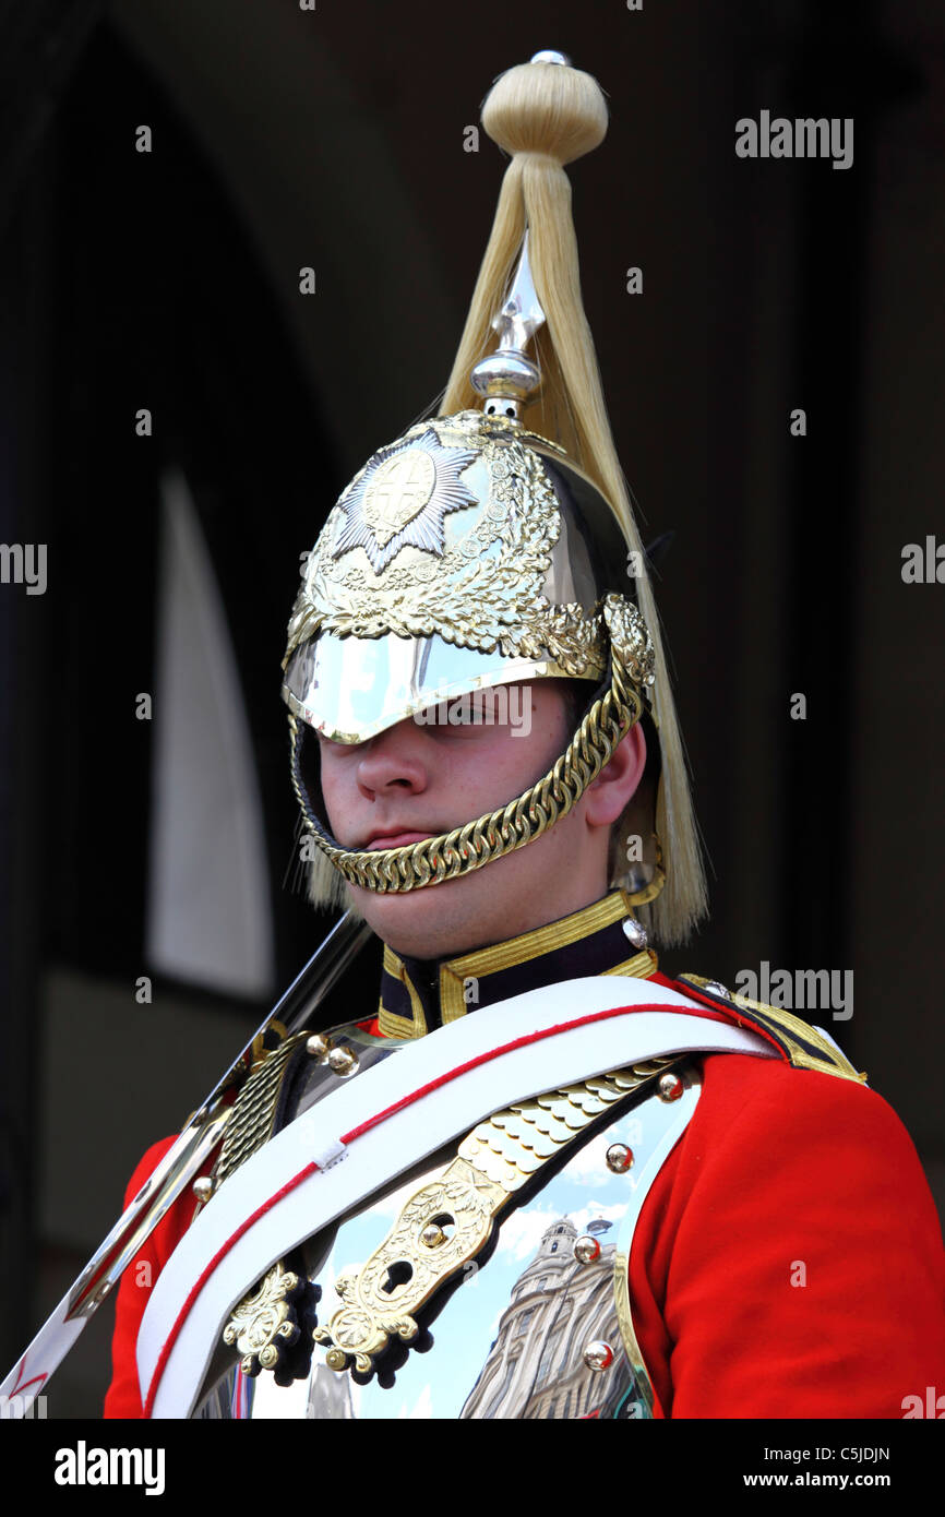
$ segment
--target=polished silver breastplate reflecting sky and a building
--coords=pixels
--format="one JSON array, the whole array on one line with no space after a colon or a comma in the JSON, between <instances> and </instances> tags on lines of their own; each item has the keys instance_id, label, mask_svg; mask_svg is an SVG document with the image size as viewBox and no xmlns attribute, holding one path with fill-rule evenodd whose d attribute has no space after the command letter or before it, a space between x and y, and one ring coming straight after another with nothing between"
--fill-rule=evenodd
<instances>
[{"instance_id":1,"label":"polished silver breastplate reflecting sky and a building","mask_svg":"<svg viewBox=\"0 0 945 1517\"><path fill-rule=\"evenodd\" d=\"M375 1039L359 1035L359 1041L363 1059L381 1054ZM394 1051L390 1039L387 1051ZM683 1060L673 1073L678 1079L670 1080L669 1098L666 1088L651 1080L569 1135L558 1156L548 1151L548 1133L537 1141L522 1136L522 1124L516 1130L508 1126L508 1113L498 1113L463 1145L454 1142L426 1161L422 1171L400 1177L396 1188L379 1191L370 1203L308 1239L302 1261L322 1292L317 1317L325 1332L343 1306L335 1289L338 1277L356 1277L390 1236L400 1236L410 1223L411 1198L420 1191L431 1194L428 1186L438 1183L451 1164L451 1174L455 1171L457 1154L470 1153L470 1138L478 1139L473 1164L484 1162L481 1150L490 1145L493 1170L507 1165L513 1150L526 1168L537 1164L504 1206L487 1245L463 1264L417 1318L422 1332L411 1346L397 1346L370 1373L358 1373L350 1362L331 1368L331 1355L317 1344L308 1377L290 1387L276 1385L265 1370L250 1379L231 1367L194 1415L652 1417L654 1391L634 1333L628 1262L645 1197L699 1097L698 1060ZM572 1101L579 1101L584 1088L569 1089L578 1092ZM294 1109L305 1110L325 1092L323 1080L311 1082ZM560 1097L552 1092L535 1100L545 1100L560 1117ZM443 1206L440 1220L446 1224L452 1215L449 1203ZM382 1289L396 1318L399 1297L407 1292L402 1274L410 1267L396 1247L391 1258L397 1264Z\"/></svg>"}]
</instances>

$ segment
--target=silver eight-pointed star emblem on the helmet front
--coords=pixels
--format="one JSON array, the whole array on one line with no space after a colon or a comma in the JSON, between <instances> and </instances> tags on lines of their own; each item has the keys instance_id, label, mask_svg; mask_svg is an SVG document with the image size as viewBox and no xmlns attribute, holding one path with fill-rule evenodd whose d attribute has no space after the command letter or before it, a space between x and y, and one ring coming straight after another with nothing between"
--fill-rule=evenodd
<instances>
[{"instance_id":1,"label":"silver eight-pointed star emblem on the helmet front","mask_svg":"<svg viewBox=\"0 0 945 1517\"><path fill-rule=\"evenodd\" d=\"M347 519L332 558L363 548L375 573L408 546L441 558L444 516L478 502L460 479L478 457L473 449L444 448L432 428L382 448L338 501Z\"/></svg>"}]
</instances>

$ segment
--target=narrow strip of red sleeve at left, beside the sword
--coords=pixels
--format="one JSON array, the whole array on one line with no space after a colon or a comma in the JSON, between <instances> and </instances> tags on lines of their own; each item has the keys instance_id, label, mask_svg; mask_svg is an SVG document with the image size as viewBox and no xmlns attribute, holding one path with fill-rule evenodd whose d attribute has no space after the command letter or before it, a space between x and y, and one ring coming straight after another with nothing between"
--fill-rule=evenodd
<instances>
[{"instance_id":1,"label":"narrow strip of red sleeve at left, beside the sword","mask_svg":"<svg viewBox=\"0 0 945 1517\"><path fill-rule=\"evenodd\" d=\"M152 1170L161 1162L176 1138L165 1138L147 1150L132 1174L124 1194L127 1208ZM209 1167L208 1167L209 1168ZM138 1362L135 1358L138 1327L153 1285L187 1232L196 1211L190 1189L184 1191L158 1223L141 1252L127 1265L118 1283L115 1297L115 1332L112 1336L112 1384L105 1397L106 1417L143 1417L141 1391L138 1390Z\"/></svg>"}]
</instances>

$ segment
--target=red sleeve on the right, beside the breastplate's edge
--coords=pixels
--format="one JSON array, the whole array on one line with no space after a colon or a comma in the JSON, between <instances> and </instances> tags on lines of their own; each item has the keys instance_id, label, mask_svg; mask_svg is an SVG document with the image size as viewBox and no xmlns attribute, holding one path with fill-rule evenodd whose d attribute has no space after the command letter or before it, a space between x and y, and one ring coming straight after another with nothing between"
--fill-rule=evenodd
<instances>
[{"instance_id":1,"label":"red sleeve on the right, beside the breastplate's edge","mask_svg":"<svg viewBox=\"0 0 945 1517\"><path fill-rule=\"evenodd\" d=\"M874 1091L705 1059L637 1224L634 1326L666 1417L903 1417L945 1382L945 1256Z\"/></svg>"}]
</instances>

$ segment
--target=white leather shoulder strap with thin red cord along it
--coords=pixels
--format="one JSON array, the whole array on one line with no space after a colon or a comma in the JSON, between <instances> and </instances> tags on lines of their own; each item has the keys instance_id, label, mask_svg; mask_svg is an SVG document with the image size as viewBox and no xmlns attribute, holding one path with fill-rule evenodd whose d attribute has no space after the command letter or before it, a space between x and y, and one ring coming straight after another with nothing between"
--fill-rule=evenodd
<instances>
[{"instance_id":1,"label":"white leather shoulder strap with thin red cord along it","mask_svg":"<svg viewBox=\"0 0 945 1517\"><path fill-rule=\"evenodd\" d=\"M150 1415L193 1411L226 1317L276 1259L451 1138L511 1101L686 1051L778 1057L675 991L601 975L478 1010L338 1083L226 1180L164 1267L138 1335Z\"/></svg>"}]
</instances>

